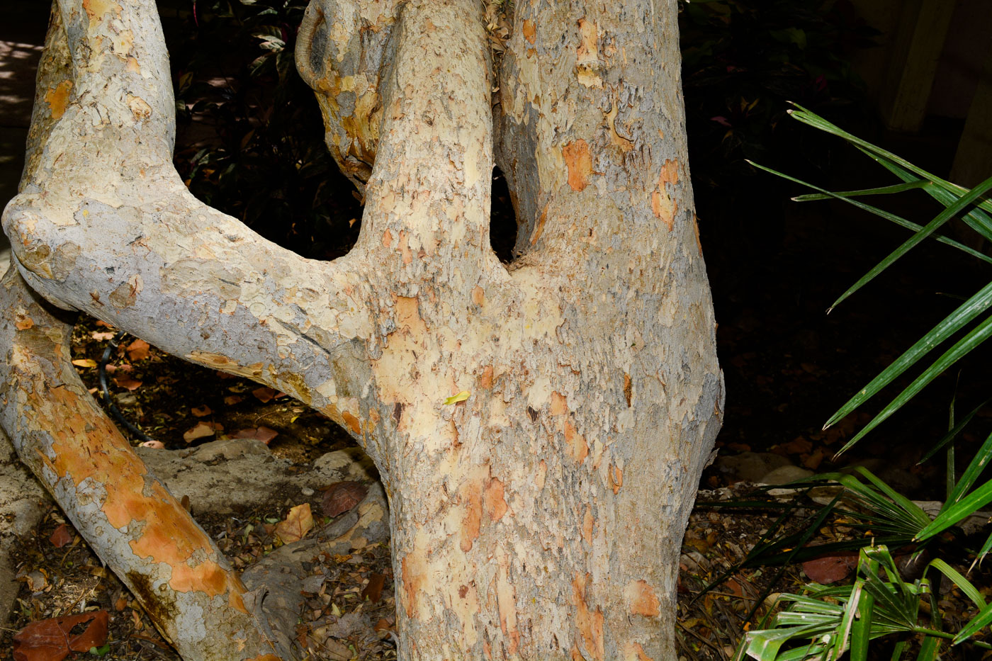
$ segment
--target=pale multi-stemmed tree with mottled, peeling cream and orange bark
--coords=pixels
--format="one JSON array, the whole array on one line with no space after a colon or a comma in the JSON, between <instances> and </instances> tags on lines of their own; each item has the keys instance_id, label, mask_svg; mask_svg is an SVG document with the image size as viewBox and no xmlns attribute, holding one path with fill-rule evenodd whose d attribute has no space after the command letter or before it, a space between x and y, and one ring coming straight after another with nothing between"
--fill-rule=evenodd
<instances>
[{"instance_id":1,"label":"pale multi-stemmed tree with mottled, peeling cream and orange bark","mask_svg":"<svg viewBox=\"0 0 992 661\"><path fill-rule=\"evenodd\" d=\"M58 5L3 220L30 287L351 432L390 496L400 658L675 658L679 548L723 396L674 0L518 1L498 80L478 0L311 2L298 66L366 199L357 245L329 263L186 192L150 2ZM509 267L489 243L494 161L518 215ZM21 457L115 571L152 587L185 658L288 658L81 403L62 327L6 288L21 303L0 396ZM166 520L195 551L149 555ZM191 602L251 630L244 651L194 639Z\"/></svg>"}]
</instances>

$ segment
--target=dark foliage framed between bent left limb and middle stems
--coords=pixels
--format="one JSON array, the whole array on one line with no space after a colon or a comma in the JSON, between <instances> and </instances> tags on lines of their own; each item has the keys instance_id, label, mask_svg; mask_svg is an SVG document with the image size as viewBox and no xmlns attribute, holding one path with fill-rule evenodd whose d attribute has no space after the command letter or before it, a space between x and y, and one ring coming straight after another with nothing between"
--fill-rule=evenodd
<instances>
[{"instance_id":1,"label":"dark foliage framed between bent left limb and middle stems","mask_svg":"<svg viewBox=\"0 0 992 661\"><path fill-rule=\"evenodd\" d=\"M180 5L182 27L170 44L175 160L197 198L291 250L326 259L354 242L361 207L327 153L316 101L294 65L306 6Z\"/></svg>"}]
</instances>

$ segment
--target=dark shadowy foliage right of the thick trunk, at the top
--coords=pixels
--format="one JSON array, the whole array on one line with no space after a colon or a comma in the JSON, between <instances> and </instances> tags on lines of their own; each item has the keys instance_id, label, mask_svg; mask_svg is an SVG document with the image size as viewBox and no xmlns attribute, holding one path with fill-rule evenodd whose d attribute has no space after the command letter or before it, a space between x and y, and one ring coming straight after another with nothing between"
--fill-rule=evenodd
<instances>
[{"instance_id":1,"label":"dark shadowy foliage right of the thick trunk, at the top","mask_svg":"<svg viewBox=\"0 0 992 661\"><path fill-rule=\"evenodd\" d=\"M871 46L847 0L680 0L682 83L697 187L749 186L745 159L823 167L821 136L783 122L787 101L837 118L859 111L848 58ZM850 124L850 121L846 121Z\"/></svg>"}]
</instances>

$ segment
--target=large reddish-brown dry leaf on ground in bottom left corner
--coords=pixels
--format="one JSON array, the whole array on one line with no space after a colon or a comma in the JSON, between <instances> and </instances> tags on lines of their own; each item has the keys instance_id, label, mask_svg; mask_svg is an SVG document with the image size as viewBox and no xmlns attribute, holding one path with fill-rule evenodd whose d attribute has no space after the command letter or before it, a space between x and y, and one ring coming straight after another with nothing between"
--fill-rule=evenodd
<instances>
[{"instance_id":1,"label":"large reddish-brown dry leaf on ground in bottom left corner","mask_svg":"<svg viewBox=\"0 0 992 661\"><path fill-rule=\"evenodd\" d=\"M106 610L92 610L32 622L14 635L14 660L62 661L69 652L88 652L106 642L108 621ZM72 627L87 622L81 633L71 635Z\"/></svg>"}]
</instances>

